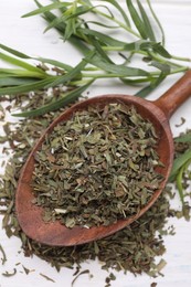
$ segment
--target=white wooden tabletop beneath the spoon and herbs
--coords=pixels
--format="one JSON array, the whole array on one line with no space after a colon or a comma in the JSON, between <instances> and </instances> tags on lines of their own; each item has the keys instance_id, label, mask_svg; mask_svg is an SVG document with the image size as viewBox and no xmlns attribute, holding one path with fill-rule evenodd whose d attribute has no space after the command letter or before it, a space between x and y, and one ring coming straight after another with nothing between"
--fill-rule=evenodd
<instances>
[{"instance_id":1,"label":"white wooden tabletop beneath the spoon and herbs","mask_svg":"<svg viewBox=\"0 0 191 287\"><path fill-rule=\"evenodd\" d=\"M47 3L49 1L42 1ZM125 1L120 1L121 3ZM167 47L172 54L191 57L191 0L158 0L152 1L155 11L162 22L167 36ZM74 47L63 44L57 34L53 31L43 34L44 21L40 17L21 19L21 15L35 9L32 0L0 0L0 43L9 45L15 50L30 55L40 55L44 57L54 57L68 64L75 64L79 61L81 55ZM70 49L70 54L68 54ZM3 64L0 62L0 65ZM191 65L191 64L190 64ZM171 84L173 84L180 75L174 75L166 81L152 95L150 99L160 96ZM104 86L100 82L91 88L91 96L104 93L134 93L134 88L125 86ZM171 128L173 135L178 135L180 130L191 127L191 98L179 108L171 118ZM177 128L181 117L187 120L183 126ZM0 158L2 160L2 158ZM2 170L1 170L2 171ZM177 201L179 202L179 201ZM179 203L178 203L179 204ZM174 224L176 235L167 236L167 253L163 258L167 266L162 270L163 277L149 278L147 275L134 277L131 274L124 275L116 273L117 279L112 283L113 287L148 287L156 281L159 287L190 287L191 286L191 222L184 220L171 220L169 224ZM4 266L0 262L0 287L70 287L73 279L73 270L62 269L57 273L49 264L38 257L26 258L18 253L21 242L11 237L7 238L4 231L0 227L0 244L4 247L8 262ZM1 257L1 254L0 254ZM20 273L22 266L17 268L15 276L6 278L1 274L6 270L12 270L17 263L21 263L29 269L35 269L33 273L25 275ZM87 262L83 265L84 269L89 268L94 275L81 276L75 283L75 287L103 287L105 286L105 277L107 274L100 269L96 262ZM40 273L53 278L55 283L47 281L40 276Z\"/></svg>"}]
</instances>

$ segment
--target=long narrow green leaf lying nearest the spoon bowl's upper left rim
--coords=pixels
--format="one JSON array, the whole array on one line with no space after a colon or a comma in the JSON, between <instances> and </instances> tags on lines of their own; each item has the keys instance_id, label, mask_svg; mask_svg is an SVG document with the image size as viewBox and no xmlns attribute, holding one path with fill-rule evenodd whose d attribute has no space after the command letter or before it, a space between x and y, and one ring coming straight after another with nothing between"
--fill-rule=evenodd
<instances>
[{"instance_id":1,"label":"long narrow green leaf lying nearest the spoon bowl's upper left rim","mask_svg":"<svg viewBox=\"0 0 191 287\"><path fill-rule=\"evenodd\" d=\"M49 105L45 105L43 107L40 107L38 109L34 109L34 110L29 110L29 111L23 111L23 113L20 113L20 114L13 114L12 116L15 116L15 117L35 117L35 116L41 116L41 115L44 115L49 111L53 111L53 110L56 110L56 109L60 109L61 107L70 104L70 103L73 103L75 102L79 96L81 94L93 83L94 81L89 81L86 85L84 86L81 86L78 88L76 88L75 91L72 91L70 93L66 93L63 98L56 100L56 102L53 102Z\"/></svg>"}]
</instances>

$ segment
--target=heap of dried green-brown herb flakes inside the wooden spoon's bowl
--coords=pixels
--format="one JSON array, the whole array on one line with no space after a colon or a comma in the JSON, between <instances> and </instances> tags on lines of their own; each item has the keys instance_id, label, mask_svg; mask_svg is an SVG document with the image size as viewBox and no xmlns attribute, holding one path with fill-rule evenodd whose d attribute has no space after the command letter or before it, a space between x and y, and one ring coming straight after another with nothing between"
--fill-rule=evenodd
<instances>
[{"instance_id":1,"label":"heap of dried green-brown herb flakes inside the wooden spoon's bowl","mask_svg":"<svg viewBox=\"0 0 191 287\"><path fill-rule=\"evenodd\" d=\"M135 215L162 176L153 125L134 106L89 106L63 121L35 153L33 203L67 227L109 225Z\"/></svg>"}]
</instances>

